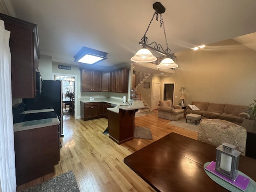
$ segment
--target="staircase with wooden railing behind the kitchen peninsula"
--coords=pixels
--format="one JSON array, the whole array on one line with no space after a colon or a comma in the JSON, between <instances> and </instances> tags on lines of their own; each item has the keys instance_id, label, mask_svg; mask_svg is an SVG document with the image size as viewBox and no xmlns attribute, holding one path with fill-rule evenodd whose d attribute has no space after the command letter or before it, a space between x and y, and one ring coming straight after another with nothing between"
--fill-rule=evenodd
<instances>
[{"instance_id":1,"label":"staircase with wooden railing behind the kitchen peninsula","mask_svg":"<svg viewBox=\"0 0 256 192\"><path fill-rule=\"evenodd\" d=\"M136 87L132 87L132 90L130 92L130 100L142 100L145 108L140 109L139 112L142 111L149 111L150 108L148 107L148 104L143 100L141 97L141 94L137 92L137 88L143 84L143 82L150 76L151 74L146 72L138 72L136 75Z\"/></svg>"}]
</instances>

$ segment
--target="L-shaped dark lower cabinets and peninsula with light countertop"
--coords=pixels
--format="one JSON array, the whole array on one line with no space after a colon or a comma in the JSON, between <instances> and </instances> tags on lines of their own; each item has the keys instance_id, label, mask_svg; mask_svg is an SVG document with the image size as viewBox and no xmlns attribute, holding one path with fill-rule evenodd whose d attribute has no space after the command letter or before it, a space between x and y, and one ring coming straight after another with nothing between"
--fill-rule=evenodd
<instances>
[{"instance_id":1,"label":"L-shaped dark lower cabinets and peninsula with light countertop","mask_svg":"<svg viewBox=\"0 0 256 192\"><path fill-rule=\"evenodd\" d=\"M80 99L81 118L108 118L109 137L121 144L134 138L135 113L145 108L142 101L123 103L121 100L100 98L95 100Z\"/></svg>"}]
</instances>

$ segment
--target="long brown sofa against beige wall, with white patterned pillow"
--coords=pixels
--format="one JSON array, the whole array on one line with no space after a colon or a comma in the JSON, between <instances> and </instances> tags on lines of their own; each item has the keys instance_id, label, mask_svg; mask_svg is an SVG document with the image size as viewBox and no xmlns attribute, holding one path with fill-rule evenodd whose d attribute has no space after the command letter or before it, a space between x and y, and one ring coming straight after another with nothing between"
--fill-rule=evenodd
<instances>
[{"instance_id":1,"label":"long brown sofa against beige wall, with white patterned pillow","mask_svg":"<svg viewBox=\"0 0 256 192\"><path fill-rule=\"evenodd\" d=\"M193 101L192 105L186 107L186 114L199 114L202 118L222 119L241 125L245 119L250 118L246 110L247 106Z\"/></svg>"}]
</instances>

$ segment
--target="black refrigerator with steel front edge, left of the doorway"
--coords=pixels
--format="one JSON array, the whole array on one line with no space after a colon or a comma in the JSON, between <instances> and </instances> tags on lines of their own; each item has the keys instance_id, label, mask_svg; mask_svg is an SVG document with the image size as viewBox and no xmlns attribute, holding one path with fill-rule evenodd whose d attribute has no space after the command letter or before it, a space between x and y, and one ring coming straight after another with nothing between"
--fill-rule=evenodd
<instances>
[{"instance_id":1,"label":"black refrigerator with steel front edge, left of the doorway","mask_svg":"<svg viewBox=\"0 0 256 192\"><path fill-rule=\"evenodd\" d=\"M35 98L23 99L26 110L53 108L60 121L60 137L63 135L62 80L43 80L42 93Z\"/></svg>"}]
</instances>

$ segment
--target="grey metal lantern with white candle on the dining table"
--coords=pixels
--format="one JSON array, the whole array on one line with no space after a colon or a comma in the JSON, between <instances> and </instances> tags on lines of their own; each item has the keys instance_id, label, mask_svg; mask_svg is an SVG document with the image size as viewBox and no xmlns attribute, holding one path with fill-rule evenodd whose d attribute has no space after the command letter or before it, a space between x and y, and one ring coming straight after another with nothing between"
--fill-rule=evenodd
<instances>
[{"instance_id":1,"label":"grey metal lantern with white candle on the dining table","mask_svg":"<svg viewBox=\"0 0 256 192\"><path fill-rule=\"evenodd\" d=\"M239 151L234 145L223 143L216 148L215 171L223 176L235 181L238 176Z\"/></svg>"}]
</instances>

